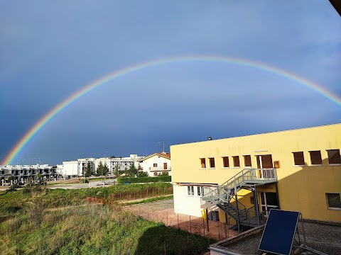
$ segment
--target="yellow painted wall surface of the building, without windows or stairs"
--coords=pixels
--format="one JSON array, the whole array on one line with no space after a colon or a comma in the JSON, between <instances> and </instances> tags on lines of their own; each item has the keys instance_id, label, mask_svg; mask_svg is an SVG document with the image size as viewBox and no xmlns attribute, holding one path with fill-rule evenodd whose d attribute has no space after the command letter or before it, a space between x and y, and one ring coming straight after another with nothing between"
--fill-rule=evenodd
<instances>
[{"instance_id":1,"label":"yellow painted wall surface of the building, without windows or stairs","mask_svg":"<svg viewBox=\"0 0 341 255\"><path fill-rule=\"evenodd\" d=\"M173 145L172 181L222 184L244 169L243 155L251 155L252 168L256 168L256 155L271 154L281 164L277 169L281 209L300 211L305 218L341 222L341 210L328 210L325 195L341 193L341 165L328 164L327 149L341 150L341 124ZM323 166L311 166L310 150L320 150ZM304 153L305 166L294 166L292 152ZM239 156L240 168L233 167L232 156ZM211 157L215 169L209 169ZM228 169L222 167L222 157L229 157ZM206 159L205 169L200 168L200 158Z\"/></svg>"}]
</instances>

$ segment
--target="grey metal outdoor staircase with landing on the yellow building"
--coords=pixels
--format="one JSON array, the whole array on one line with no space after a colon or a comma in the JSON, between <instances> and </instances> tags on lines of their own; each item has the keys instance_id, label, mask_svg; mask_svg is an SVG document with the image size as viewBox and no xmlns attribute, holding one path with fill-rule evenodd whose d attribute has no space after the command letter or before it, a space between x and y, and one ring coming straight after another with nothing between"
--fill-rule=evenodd
<instances>
[{"instance_id":1,"label":"grey metal outdoor staircase with landing on the yellow building","mask_svg":"<svg viewBox=\"0 0 341 255\"><path fill-rule=\"evenodd\" d=\"M205 187L202 200L212 203L223 210L229 217L236 221L236 228L242 226L256 227L261 225L261 214L254 196L255 206L246 208L237 198L238 191L244 188L253 188L266 183L276 183L276 169L243 169L228 181L217 187Z\"/></svg>"}]
</instances>

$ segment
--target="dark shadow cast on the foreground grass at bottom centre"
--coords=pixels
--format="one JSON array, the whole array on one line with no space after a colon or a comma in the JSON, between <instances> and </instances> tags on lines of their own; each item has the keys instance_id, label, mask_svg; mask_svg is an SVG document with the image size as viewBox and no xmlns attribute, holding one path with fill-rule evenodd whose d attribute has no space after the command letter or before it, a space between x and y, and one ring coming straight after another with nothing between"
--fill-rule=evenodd
<instances>
[{"instance_id":1,"label":"dark shadow cast on the foreground grass at bottom centre","mask_svg":"<svg viewBox=\"0 0 341 255\"><path fill-rule=\"evenodd\" d=\"M165 225L151 227L144 232L137 244L135 255L167 254L190 255L207 251L215 239L207 239L198 234Z\"/></svg>"}]
</instances>

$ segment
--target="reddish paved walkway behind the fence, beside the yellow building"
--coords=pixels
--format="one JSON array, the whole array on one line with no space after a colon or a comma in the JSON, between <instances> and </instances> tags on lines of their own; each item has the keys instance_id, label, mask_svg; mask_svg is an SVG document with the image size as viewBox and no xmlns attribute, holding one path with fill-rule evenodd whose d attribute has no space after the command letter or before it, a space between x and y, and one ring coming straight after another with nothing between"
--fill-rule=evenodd
<instances>
[{"instance_id":1,"label":"reddish paved walkway behind the fence, beside the yellow building","mask_svg":"<svg viewBox=\"0 0 341 255\"><path fill-rule=\"evenodd\" d=\"M238 234L237 231L230 230L227 225L213 222L212 220L209 220L210 231L207 232L207 223L202 217L175 213L173 199L126 206L124 209L134 212L146 220L163 222L166 226L178 227L190 233L200 234L203 237L210 237L216 240L234 237Z\"/></svg>"}]
</instances>

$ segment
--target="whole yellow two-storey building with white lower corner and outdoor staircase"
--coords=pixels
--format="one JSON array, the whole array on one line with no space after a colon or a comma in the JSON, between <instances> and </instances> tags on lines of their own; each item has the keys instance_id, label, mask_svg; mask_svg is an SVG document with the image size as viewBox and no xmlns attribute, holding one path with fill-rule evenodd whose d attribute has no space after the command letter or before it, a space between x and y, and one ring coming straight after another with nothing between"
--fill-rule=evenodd
<instances>
[{"instance_id":1,"label":"whole yellow two-storey building with white lower corner and outdoor staircase","mask_svg":"<svg viewBox=\"0 0 341 255\"><path fill-rule=\"evenodd\" d=\"M173 145L174 210L249 227L271 208L341 222L340 149L341 124Z\"/></svg>"}]
</instances>

